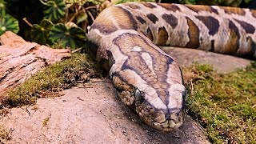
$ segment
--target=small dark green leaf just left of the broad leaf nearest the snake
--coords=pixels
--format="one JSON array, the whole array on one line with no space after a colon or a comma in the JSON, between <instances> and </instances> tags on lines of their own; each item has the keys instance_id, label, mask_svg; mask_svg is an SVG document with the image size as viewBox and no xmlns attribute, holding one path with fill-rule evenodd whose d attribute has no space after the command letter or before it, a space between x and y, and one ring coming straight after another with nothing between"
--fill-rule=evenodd
<instances>
[{"instance_id":1,"label":"small dark green leaf just left of the broad leaf nearest the snake","mask_svg":"<svg viewBox=\"0 0 256 144\"><path fill-rule=\"evenodd\" d=\"M40 44L46 44L49 38L49 32L54 26L53 22L50 22L47 19L43 19L40 25L34 24L31 29L30 37L34 42Z\"/></svg>"}]
</instances>

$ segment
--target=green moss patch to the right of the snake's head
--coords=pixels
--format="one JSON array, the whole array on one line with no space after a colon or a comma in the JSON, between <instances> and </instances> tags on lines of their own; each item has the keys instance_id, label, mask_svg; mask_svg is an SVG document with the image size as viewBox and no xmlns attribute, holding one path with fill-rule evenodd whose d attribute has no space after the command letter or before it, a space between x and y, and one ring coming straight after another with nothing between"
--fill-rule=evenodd
<instances>
[{"instance_id":1,"label":"green moss patch to the right of the snake's head","mask_svg":"<svg viewBox=\"0 0 256 144\"><path fill-rule=\"evenodd\" d=\"M185 68L186 107L213 143L256 143L256 66L217 74L208 65Z\"/></svg>"}]
</instances>

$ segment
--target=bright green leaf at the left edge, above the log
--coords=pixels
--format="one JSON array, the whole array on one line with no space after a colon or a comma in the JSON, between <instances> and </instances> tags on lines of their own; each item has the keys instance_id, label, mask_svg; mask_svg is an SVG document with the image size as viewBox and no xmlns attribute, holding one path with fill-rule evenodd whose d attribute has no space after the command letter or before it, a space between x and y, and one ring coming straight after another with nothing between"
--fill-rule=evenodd
<instances>
[{"instance_id":1,"label":"bright green leaf at the left edge, above the log","mask_svg":"<svg viewBox=\"0 0 256 144\"><path fill-rule=\"evenodd\" d=\"M5 31L10 30L14 33L18 33L18 21L10 16L9 14L0 16L0 35L2 35Z\"/></svg>"}]
</instances>

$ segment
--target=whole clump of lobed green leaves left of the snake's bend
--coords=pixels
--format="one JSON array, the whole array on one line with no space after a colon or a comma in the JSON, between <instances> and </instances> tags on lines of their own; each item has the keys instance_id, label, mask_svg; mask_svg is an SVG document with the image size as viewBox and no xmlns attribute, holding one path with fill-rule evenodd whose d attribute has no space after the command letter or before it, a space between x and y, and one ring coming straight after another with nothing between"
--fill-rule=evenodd
<instances>
[{"instance_id":1,"label":"whole clump of lobed green leaves left of the snake's bend","mask_svg":"<svg viewBox=\"0 0 256 144\"><path fill-rule=\"evenodd\" d=\"M77 6L84 1L68 1L66 5L63 0L50 0L43 2L46 10L44 10L44 18L40 25L34 24L31 29L30 38L34 42L48 45L70 47L72 49L83 46L86 40L86 32L79 28L74 22L77 18L77 24L86 22L87 14L82 12L82 7ZM76 12L75 14L73 13ZM62 18L64 15L66 18ZM70 24L74 24L70 26ZM62 42L62 43L60 43Z\"/></svg>"}]
</instances>

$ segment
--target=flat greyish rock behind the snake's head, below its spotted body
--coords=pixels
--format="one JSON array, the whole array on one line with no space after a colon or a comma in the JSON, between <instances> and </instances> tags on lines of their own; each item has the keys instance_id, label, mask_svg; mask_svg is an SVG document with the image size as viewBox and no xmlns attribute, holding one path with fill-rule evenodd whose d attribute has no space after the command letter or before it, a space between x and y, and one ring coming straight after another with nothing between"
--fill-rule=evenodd
<instances>
[{"instance_id":1,"label":"flat greyish rock behind the snake's head, below its spotted body","mask_svg":"<svg viewBox=\"0 0 256 144\"><path fill-rule=\"evenodd\" d=\"M192 62L210 64L218 73L226 74L245 68L250 60L231 55L216 54L209 51L163 46L162 49L172 56L180 66L190 66Z\"/></svg>"}]
</instances>

